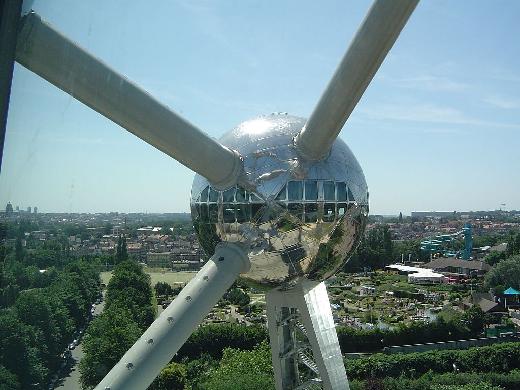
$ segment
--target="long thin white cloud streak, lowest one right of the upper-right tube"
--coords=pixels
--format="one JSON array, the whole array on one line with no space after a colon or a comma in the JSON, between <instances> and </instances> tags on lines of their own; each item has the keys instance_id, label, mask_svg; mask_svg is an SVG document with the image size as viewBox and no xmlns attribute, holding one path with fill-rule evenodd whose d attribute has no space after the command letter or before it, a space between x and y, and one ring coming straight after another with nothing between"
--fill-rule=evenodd
<instances>
[{"instance_id":1,"label":"long thin white cloud streak, lowest one right of the upper-right tube","mask_svg":"<svg viewBox=\"0 0 520 390\"><path fill-rule=\"evenodd\" d=\"M492 126L502 128L520 128L520 125L509 123L488 122L469 118L463 112L450 108L438 107L432 104L381 105L372 109L360 110L361 113L378 119L391 119L409 122L450 123L458 125Z\"/></svg>"}]
</instances>

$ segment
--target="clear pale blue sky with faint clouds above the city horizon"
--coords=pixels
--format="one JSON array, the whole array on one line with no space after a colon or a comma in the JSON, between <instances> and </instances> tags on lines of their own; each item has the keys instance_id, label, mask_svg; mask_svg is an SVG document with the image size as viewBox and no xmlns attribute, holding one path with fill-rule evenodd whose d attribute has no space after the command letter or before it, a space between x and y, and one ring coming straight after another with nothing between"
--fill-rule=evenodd
<instances>
[{"instance_id":1,"label":"clear pale blue sky with faint clouds above the city horizon","mask_svg":"<svg viewBox=\"0 0 520 390\"><path fill-rule=\"evenodd\" d=\"M153 4L33 8L218 138L266 113L307 117L370 2ZM363 167L371 214L520 209L519 19L520 2L419 4L340 134ZM187 212L192 179L16 64L2 207Z\"/></svg>"}]
</instances>

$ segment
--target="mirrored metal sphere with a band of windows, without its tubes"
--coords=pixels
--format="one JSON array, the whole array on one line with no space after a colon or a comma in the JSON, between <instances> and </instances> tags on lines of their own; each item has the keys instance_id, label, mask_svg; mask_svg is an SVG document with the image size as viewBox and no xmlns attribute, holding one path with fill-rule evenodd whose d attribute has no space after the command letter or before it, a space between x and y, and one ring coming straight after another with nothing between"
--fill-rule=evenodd
<instances>
[{"instance_id":1,"label":"mirrored metal sphere with a band of windows, without its tubes","mask_svg":"<svg viewBox=\"0 0 520 390\"><path fill-rule=\"evenodd\" d=\"M293 137L305 122L271 114L238 125L219 141L242 155L242 185L216 191L200 175L193 180L191 216L204 252L212 256L221 241L246 248L251 268L239 281L251 288L329 278L365 229L368 188L354 154L337 138L325 161L298 157Z\"/></svg>"}]
</instances>

